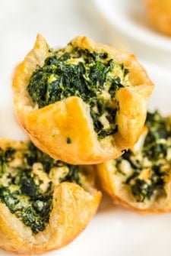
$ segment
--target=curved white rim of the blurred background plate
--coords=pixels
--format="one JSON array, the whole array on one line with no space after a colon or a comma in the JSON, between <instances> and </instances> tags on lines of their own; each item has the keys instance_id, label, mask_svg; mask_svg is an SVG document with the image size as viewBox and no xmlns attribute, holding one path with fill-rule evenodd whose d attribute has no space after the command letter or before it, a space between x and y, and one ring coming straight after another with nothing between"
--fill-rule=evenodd
<instances>
[{"instance_id":1,"label":"curved white rim of the blurred background plate","mask_svg":"<svg viewBox=\"0 0 171 256\"><path fill-rule=\"evenodd\" d=\"M124 4L128 5L128 2L131 3L130 0L93 0L97 10L103 15L103 18L106 18L106 21L108 21L113 28L118 29L120 33L138 41L138 43L143 43L151 48L158 48L163 50L163 52L168 51L171 53L171 39L169 37L157 34L157 32L152 29L148 30L142 28L131 21L131 19L125 17L122 6ZM117 7L116 9L114 8L115 5ZM131 3L131 5L133 5L133 3ZM139 5L142 5L142 3L139 2Z\"/></svg>"}]
</instances>

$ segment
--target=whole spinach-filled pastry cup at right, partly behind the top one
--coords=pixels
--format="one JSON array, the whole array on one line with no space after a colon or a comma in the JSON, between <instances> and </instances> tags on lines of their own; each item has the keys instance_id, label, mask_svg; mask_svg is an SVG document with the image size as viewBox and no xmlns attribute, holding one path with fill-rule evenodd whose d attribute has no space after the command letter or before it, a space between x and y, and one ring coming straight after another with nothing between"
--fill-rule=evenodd
<instances>
[{"instance_id":1,"label":"whole spinach-filled pastry cup at right, partly behind the top one","mask_svg":"<svg viewBox=\"0 0 171 256\"><path fill-rule=\"evenodd\" d=\"M97 165L97 173L115 203L139 212L170 211L171 119L149 112L146 125L135 147Z\"/></svg>"}]
</instances>

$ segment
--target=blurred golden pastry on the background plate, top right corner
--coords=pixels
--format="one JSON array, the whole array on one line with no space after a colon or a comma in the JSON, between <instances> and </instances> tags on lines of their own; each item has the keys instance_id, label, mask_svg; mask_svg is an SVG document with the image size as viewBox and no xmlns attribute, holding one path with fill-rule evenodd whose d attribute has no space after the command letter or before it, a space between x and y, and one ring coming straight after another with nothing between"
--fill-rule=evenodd
<instances>
[{"instance_id":1,"label":"blurred golden pastry on the background plate, top right corner","mask_svg":"<svg viewBox=\"0 0 171 256\"><path fill-rule=\"evenodd\" d=\"M144 0L147 18L157 31L171 35L171 0Z\"/></svg>"}]
</instances>

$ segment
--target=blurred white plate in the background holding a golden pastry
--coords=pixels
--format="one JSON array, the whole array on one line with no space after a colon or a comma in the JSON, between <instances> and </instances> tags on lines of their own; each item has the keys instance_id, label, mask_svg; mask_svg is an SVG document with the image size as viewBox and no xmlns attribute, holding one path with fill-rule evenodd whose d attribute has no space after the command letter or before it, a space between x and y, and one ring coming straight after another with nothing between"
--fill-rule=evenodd
<instances>
[{"instance_id":1,"label":"blurred white plate in the background holding a golden pastry","mask_svg":"<svg viewBox=\"0 0 171 256\"><path fill-rule=\"evenodd\" d=\"M147 23L144 0L93 0L93 3L106 25L112 27L111 41L120 36L128 44L128 50L138 57L171 68L171 37L154 31Z\"/></svg>"}]
</instances>

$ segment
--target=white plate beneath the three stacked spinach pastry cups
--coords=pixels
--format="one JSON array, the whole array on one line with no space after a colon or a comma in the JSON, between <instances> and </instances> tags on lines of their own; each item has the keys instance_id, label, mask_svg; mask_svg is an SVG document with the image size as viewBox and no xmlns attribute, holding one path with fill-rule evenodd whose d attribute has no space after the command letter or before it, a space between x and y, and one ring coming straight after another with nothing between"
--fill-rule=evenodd
<instances>
[{"instance_id":1,"label":"white plate beneath the three stacked spinach pastry cups","mask_svg":"<svg viewBox=\"0 0 171 256\"><path fill-rule=\"evenodd\" d=\"M160 67L142 61L150 77L156 83L150 98L149 109L171 112L171 77ZM0 134L5 137L23 138L24 134L14 119L11 94L2 100L3 116ZM105 195L97 215L70 245L44 256L169 256L171 251L171 213L163 215L139 215L112 204ZM1 251L1 256L13 254Z\"/></svg>"}]
</instances>

